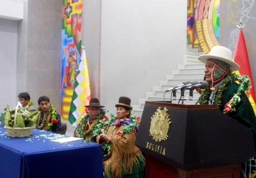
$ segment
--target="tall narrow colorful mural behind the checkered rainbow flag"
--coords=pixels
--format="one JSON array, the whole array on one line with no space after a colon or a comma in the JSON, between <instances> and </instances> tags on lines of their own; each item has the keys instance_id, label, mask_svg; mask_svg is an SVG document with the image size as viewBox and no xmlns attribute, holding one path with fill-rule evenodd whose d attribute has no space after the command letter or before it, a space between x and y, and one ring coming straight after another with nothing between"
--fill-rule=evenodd
<instances>
[{"instance_id":1,"label":"tall narrow colorful mural behind the checkered rainbow flag","mask_svg":"<svg viewBox=\"0 0 256 178\"><path fill-rule=\"evenodd\" d=\"M64 0L62 7L61 115L69 118L75 78L81 62L82 0Z\"/></svg>"}]
</instances>

